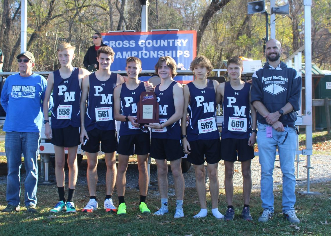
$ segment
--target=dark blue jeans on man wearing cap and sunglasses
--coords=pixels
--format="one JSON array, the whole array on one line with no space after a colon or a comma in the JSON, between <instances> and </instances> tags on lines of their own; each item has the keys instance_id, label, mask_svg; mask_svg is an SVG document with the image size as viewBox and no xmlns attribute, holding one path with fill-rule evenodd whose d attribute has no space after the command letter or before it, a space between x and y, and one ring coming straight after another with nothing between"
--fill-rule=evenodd
<instances>
[{"instance_id":1,"label":"dark blue jeans on man wearing cap and sunglasses","mask_svg":"<svg viewBox=\"0 0 331 236\"><path fill-rule=\"evenodd\" d=\"M24 181L25 206L37 204L38 182L38 147L40 145L39 132L6 132L5 151L7 156L7 191L8 204L19 206L21 195L20 169L22 166L22 153L26 170Z\"/></svg>"}]
</instances>

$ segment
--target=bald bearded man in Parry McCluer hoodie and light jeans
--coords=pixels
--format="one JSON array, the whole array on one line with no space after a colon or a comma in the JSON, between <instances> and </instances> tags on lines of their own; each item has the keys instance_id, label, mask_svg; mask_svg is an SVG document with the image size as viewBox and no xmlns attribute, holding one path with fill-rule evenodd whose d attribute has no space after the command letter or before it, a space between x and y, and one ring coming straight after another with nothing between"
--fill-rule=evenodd
<instances>
[{"instance_id":1,"label":"bald bearded man in Parry McCluer hoodie and light jeans","mask_svg":"<svg viewBox=\"0 0 331 236\"><path fill-rule=\"evenodd\" d=\"M276 39L265 45L268 61L254 72L251 103L257 109L259 161L261 165L261 200L263 213L259 222L266 222L274 213L273 168L278 147L283 173L283 214L291 223L300 223L294 204L297 130L295 120L301 104L301 76L280 61L281 44Z\"/></svg>"}]
</instances>

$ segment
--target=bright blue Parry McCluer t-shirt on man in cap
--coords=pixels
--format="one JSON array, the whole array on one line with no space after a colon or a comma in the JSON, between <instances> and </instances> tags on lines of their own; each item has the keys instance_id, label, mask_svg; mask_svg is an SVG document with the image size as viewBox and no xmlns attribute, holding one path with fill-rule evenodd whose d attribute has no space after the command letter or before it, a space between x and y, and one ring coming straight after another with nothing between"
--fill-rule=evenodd
<instances>
[{"instance_id":1,"label":"bright blue Parry McCluer t-shirt on man in cap","mask_svg":"<svg viewBox=\"0 0 331 236\"><path fill-rule=\"evenodd\" d=\"M36 73L29 77L8 76L1 92L1 105L7 113L4 131L41 132L46 86L46 79Z\"/></svg>"}]
</instances>

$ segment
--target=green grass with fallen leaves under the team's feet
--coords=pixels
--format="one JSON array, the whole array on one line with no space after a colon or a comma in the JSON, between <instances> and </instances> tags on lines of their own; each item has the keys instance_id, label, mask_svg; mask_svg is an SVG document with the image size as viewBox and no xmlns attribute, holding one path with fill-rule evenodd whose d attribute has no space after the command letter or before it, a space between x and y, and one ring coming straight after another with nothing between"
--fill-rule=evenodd
<instances>
[{"instance_id":1,"label":"green grass with fallen leaves under the team's feet","mask_svg":"<svg viewBox=\"0 0 331 236\"><path fill-rule=\"evenodd\" d=\"M197 193L194 188L185 190L185 217L174 219L175 198L169 197L169 213L164 216L143 215L139 212L139 192L136 189L126 191L127 215L118 216L106 213L103 208L104 185L99 185L97 193L99 209L92 213L80 210L88 202L87 186L77 186L75 193L76 213L50 213L51 206L58 201L55 186L38 186L38 213L26 214L24 207L20 213L0 213L0 235L331 235L331 182L311 185L312 191L323 193L321 196L297 195L297 215L301 223L292 225L281 213L281 190L275 191L275 215L267 223L258 223L262 208L260 192L253 191L251 213L253 222L240 219L242 191L235 189L235 220L224 222L215 219L209 208L206 218L194 219L200 210ZM305 190L304 188L298 191ZM22 189L22 191L24 191ZM5 184L0 185L0 201L5 202ZM147 204L152 212L160 207L157 190L149 190ZM117 194L114 194L117 204ZM23 199L21 199L22 202ZM207 197L210 206L210 197ZM0 206L3 209L5 206ZM224 213L226 199L224 190L219 197L219 209Z\"/></svg>"}]
</instances>

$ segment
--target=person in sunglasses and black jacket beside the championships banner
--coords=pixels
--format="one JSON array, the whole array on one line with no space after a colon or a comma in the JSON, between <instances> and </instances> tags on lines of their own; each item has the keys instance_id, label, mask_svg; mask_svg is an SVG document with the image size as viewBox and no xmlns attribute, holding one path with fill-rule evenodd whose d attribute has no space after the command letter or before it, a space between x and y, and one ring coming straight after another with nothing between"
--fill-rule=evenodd
<instances>
[{"instance_id":1,"label":"person in sunglasses and black jacket beside the championships banner","mask_svg":"<svg viewBox=\"0 0 331 236\"><path fill-rule=\"evenodd\" d=\"M102 42L102 36L100 33L94 33L92 36L94 45L87 49L84 56L83 64L88 71L99 70L99 62L97 61L97 51L102 46L107 46Z\"/></svg>"}]
</instances>

